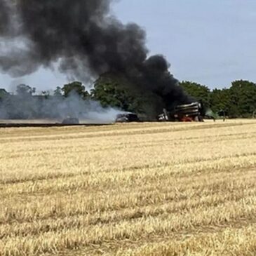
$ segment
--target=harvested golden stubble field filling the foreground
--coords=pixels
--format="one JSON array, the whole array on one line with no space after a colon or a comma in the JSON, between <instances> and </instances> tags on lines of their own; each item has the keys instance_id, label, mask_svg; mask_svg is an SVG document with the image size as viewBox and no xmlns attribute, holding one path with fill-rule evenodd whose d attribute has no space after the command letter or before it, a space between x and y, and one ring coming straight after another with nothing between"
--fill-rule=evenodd
<instances>
[{"instance_id":1,"label":"harvested golden stubble field filling the foreground","mask_svg":"<svg viewBox=\"0 0 256 256\"><path fill-rule=\"evenodd\" d=\"M256 121L0 129L0 256L256 255Z\"/></svg>"}]
</instances>

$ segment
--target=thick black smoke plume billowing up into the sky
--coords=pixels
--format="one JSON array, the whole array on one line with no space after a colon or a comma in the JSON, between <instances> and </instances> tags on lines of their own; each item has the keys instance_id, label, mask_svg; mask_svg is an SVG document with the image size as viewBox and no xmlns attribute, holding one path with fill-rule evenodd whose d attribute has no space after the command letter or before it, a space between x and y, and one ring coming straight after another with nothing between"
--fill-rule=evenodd
<instances>
[{"instance_id":1,"label":"thick black smoke plume billowing up into the sky","mask_svg":"<svg viewBox=\"0 0 256 256\"><path fill-rule=\"evenodd\" d=\"M0 0L0 69L13 76L58 63L60 71L86 81L105 72L123 74L163 105L187 102L161 55L147 58L146 34L110 15L111 0ZM1 46L0 44L0 47ZM5 46L6 47L6 46ZM131 88L132 89L132 88Z\"/></svg>"}]
</instances>

